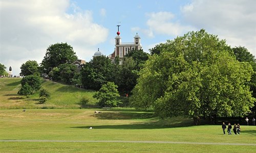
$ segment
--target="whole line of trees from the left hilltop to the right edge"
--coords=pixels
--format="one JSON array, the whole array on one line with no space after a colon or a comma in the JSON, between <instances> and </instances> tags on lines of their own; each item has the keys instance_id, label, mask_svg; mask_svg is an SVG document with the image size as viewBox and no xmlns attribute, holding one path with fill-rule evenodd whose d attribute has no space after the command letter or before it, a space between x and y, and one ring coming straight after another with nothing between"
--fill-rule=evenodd
<instances>
[{"instance_id":1,"label":"whole line of trees from the left hilltop to the right edge","mask_svg":"<svg viewBox=\"0 0 256 153\"><path fill-rule=\"evenodd\" d=\"M122 65L99 56L77 69L71 64L77 59L72 46L57 43L49 46L40 66L28 61L20 68L23 75L44 72L54 81L86 89L117 88L120 95L132 94L132 106L154 109L162 118L182 115L198 123L201 117L255 113L256 64L246 48L231 48L200 30L167 40L150 52L133 50Z\"/></svg>"}]
</instances>

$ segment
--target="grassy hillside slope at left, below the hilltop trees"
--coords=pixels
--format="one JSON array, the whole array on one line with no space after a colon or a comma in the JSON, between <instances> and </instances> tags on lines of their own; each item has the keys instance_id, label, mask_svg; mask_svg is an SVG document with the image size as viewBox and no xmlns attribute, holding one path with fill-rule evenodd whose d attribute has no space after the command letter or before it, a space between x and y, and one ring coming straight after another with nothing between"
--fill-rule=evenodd
<instances>
[{"instance_id":1,"label":"grassy hillside slope at left, below the hilltop trees","mask_svg":"<svg viewBox=\"0 0 256 153\"><path fill-rule=\"evenodd\" d=\"M72 86L62 85L52 81L43 81L42 87L47 89L51 97L46 104L39 104L39 93L36 92L29 98L18 95L21 78L0 78L0 108L1 109L78 109L79 100L87 96L89 106L94 106L97 99L93 98L95 91L84 90Z\"/></svg>"}]
</instances>

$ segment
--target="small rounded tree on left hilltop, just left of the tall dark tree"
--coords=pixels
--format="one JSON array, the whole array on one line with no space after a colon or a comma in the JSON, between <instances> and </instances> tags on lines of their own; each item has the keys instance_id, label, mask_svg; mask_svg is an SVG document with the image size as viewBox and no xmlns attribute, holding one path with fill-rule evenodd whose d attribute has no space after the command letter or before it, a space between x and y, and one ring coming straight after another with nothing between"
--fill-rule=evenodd
<instances>
[{"instance_id":1,"label":"small rounded tree on left hilltop, just left of the tall dark tree","mask_svg":"<svg viewBox=\"0 0 256 153\"><path fill-rule=\"evenodd\" d=\"M38 73L38 64L36 61L27 61L26 63L23 63L22 66L20 66L20 75L33 75L35 73Z\"/></svg>"}]
</instances>

